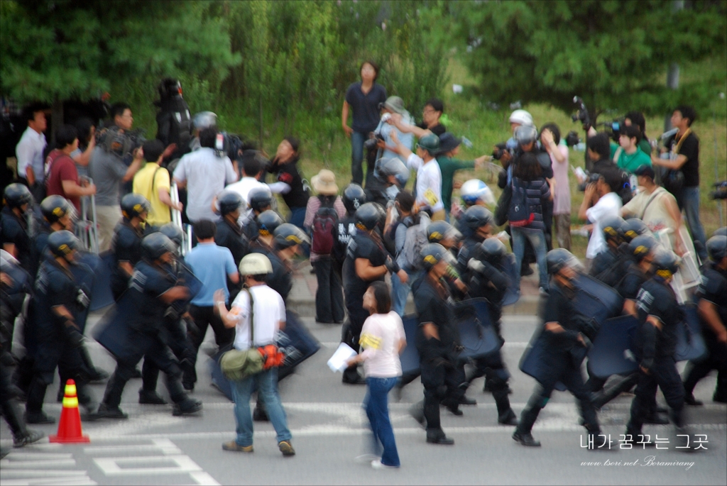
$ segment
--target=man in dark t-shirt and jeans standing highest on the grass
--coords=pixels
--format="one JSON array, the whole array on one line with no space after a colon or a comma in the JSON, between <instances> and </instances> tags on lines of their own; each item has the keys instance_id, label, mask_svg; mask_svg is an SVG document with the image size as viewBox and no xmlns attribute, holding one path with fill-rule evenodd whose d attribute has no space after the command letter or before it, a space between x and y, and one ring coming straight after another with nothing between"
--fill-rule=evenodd
<instances>
[{"instance_id":1,"label":"man in dark t-shirt and jeans standing highest on the grass","mask_svg":"<svg viewBox=\"0 0 727 486\"><path fill-rule=\"evenodd\" d=\"M379 66L365 61L359 69L361 81L352 83L346 91L341 110L341 125L351 139L351 182L364 183L364 141L379 123L379 105L386 101L386 89L376 84ZM348 126L348 110L353 110L353 126ZM373 171L373 167L367 172Z\"/></svg>"}]
</instances>

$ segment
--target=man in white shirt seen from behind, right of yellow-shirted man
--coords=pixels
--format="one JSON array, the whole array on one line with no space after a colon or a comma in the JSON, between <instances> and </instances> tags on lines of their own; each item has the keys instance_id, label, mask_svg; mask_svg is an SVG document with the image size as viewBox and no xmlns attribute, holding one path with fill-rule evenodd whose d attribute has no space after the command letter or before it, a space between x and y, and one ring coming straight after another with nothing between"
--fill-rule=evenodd
<instances>
[{"instance_id":1,"label":"man in white shirt seen from behind, right of yellow-shirted man","mask_svg":"<svg viewBox=\"0 0 727 486\"><path fill-rule=\"evenodd\" d=\"M212 210L212 201L225 185L236 182L237 174L227 155L215 150L217 128L211 126L199 134L201 148L180 158L174 169L174 182L187 188L187 216L196 223L201 219L220 219Z\"/></svg>"}]
</instances>

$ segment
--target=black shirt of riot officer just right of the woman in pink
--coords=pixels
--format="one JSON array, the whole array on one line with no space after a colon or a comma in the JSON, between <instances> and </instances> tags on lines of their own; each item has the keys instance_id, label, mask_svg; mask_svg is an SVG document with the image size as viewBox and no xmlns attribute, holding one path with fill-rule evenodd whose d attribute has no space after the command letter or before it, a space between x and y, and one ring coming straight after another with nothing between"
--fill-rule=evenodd
<instances>
[{"instance_id":1,"label":"black shirt of riot officer just right of the woman in pink","mask_svg":"<svg viewBox=\"0 0 727 486\"><path fill-rule=\"evenodd\" d=\"M454 301L447 286L436 285L429 275L425 275L415 285L414 306L417 308L419 328L417 330L417 349L423 363L438 357L454 360L457 355L455 346L459 345L459 332L454 320ZM426 339L422 325L433 323L437 326L439 339Z\"/></svg>"}]
</instances>

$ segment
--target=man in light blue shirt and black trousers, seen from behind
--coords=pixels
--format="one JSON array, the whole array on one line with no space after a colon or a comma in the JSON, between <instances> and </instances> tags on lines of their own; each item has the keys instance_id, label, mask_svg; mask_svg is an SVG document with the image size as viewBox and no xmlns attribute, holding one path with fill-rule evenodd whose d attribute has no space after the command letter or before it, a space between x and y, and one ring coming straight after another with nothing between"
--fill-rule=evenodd
<instances>
[{"instance_id":1,"label":"man in light blue shirt and black trousers, seen from behind","mask_svg":"<svg viewBox=\"0 0 727 486\"><path fill-rule=\"evenodd\" d=\"M225 328L219 315L214 314L214 292L222 289L225 293L225 304L229 304L230 292L227 288L227 279L238 283L238 274L232 253L224 246L214 243L217 226L209 219L201 219L194 225L194 234L197 235L198 245L190 251L185 263L194 275L201 281L202 290L190 302L189 313L196 325L196 331L190 333L190 341L194 346L194 363L197 362L199 347L204 341L207 326L212 326L214 341L218 347L230 344L235 338L234 328ZM189 367L193 369L194 366ZM194 375L194 376L192 376ZM193 390L197 381L196 373L185 370L182 385L187 390Z\"/></svg>"}]
</instances>

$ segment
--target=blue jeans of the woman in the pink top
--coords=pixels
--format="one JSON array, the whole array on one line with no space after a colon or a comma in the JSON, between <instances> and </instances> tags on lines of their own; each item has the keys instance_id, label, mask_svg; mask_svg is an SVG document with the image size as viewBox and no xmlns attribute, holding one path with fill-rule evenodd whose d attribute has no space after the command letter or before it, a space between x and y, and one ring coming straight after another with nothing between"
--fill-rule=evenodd
<instances>
[{"instance_id":1,"label":"blue jeans of the woman in the pink top","mask_svg":"<svg viewBox=\"0 0 727 486\"><path fill-rule=\"evenodd\" d=\"M394 429L389 420L389 392L399 378L366 378L364 408L369 417L373 433L371 446L374 454L381 453L381 463L386 466L401 466L396 452ZM383 452L382 452L383 451Z\"/></svg>"}]
</instances>

